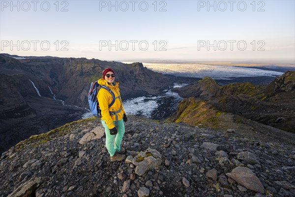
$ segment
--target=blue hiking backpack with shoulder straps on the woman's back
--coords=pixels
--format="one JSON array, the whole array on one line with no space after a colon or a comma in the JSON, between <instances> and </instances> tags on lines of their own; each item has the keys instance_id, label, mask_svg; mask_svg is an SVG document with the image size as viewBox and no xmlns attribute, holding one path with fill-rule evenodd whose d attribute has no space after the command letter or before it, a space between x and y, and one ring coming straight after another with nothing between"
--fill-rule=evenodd
<instances>
[{"instance_id":1,"label":"blue hiking backpack with shoulder straps on the woman's back","mask_svg":"<svg viewBox=\"0 0 295 197\"><path fill-rule=\"evenodd\" d=\"M90 85L90 90L89 90L89 94L88 94L88 102L89 102L90 111L92 112L92 114L94 116L96 116L98 118L101 118L101 110L99 108L99 103L97 101L97 93L100 90L100 88L107 90L113 97L113 100L109 104L109 107L111 107L115 102L115 95L111 91L110 88L108 88L107 86L101 86L97 83L97 81L93 81Z\"/></svg>"}]
</instances>

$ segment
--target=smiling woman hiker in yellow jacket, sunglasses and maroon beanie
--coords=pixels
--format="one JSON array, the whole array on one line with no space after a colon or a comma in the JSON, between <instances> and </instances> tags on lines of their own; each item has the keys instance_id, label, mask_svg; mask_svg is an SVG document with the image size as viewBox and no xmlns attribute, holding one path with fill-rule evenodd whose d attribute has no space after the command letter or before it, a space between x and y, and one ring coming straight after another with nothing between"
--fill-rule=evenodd
<instances>
[{"instance_id":1,"label":"smiling woman hiker in yellow jacket, sunglasses and maroon beanie","mask_svg":"<svg viewBox=\"0 0 295 197\"><path fill-rule=\"evenodd\" d=\"M115 82L115 71L106 68L102 72L102 78L98 80L98 84L107 86L115 95L115 102L109 107L113 97L109 91L100 88L97 100L101 110L101 123L105 129L106 147L111 156L111 162L122 161L126 157L122 155L126 150L121 148L121 142L125 132L124 122L127 122L127 116L120 97L119 83Z\"/></svg>"}]
</instances>

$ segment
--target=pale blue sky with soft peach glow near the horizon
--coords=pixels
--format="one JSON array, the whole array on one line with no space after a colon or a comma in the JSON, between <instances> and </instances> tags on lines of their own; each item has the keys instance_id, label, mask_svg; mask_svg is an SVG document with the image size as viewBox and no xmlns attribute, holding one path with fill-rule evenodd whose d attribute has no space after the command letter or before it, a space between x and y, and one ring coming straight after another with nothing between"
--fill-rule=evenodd
<instances>
[{"instance_id":1,"label":"pale blue sky with soft peach glow near the horizon","mask_svg":"<svg viewBox=\"0 0 295 197\"><path fill-rule=\"evenodd\" d=\"M1 0L0 53L295 63L294 0Z\"/></svg>"}]
</instances>

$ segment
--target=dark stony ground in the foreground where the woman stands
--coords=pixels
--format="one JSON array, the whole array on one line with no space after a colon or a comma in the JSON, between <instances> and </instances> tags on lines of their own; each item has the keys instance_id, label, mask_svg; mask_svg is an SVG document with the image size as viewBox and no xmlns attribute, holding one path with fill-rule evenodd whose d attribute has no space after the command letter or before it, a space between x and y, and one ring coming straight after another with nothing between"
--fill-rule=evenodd
<instances>
[{"instance_id":1,"label":"dark stony ground in the foreground where the woman stands","mask_svg":"<svg viewBox=\"0 0 295 197\"><path fill-rule=\"evenodd\" d=\"M4 152L0 197L295 196L295 134L286 142L277 140L286 132L253 139L129 115L122 141L127 158L111 163L105 137L96 133L100 126L94 118L76 121ZM85 134L97 139L81 140ZM139 173L137 164L156 152L160 165Z\"/></svg>"}]
</instances>

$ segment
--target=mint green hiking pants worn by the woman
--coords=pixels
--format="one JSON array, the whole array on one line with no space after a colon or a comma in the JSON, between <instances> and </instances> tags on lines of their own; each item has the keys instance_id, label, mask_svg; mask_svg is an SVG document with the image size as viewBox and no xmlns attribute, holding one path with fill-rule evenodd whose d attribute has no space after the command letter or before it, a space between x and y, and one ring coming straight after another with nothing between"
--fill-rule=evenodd
<instances>
[{"instance_id":1,"label":"mint green hiking pants worn by the woman","mask_svg":"<svg viewBox=\"0 0 295 197\"><path fill-rule=\"evenodd\" d=\"M113 157L116 152L119 152L121 150L121 142L122 142L123 135L125 133L125 125L124 125L123 119L118 121L118 128L117 128L118 133L116 134L116 138L115 138L115 135L110 134L110 129L106 125L105 121L101 120L101 123L102 123L102 126L105 128L107 150L110 156ZM115 122L114 122L114 125L116 125ZM114 138L115 138L115 147L114 147Z\"/></svg>"}]
</instances>

